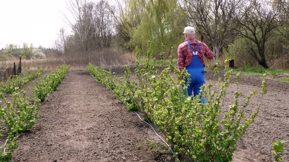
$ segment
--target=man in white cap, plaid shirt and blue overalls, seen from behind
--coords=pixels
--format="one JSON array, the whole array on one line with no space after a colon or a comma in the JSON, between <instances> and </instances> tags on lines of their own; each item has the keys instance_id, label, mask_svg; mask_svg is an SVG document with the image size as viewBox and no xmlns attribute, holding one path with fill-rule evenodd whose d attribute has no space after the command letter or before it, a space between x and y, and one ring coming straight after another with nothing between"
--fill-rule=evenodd
<instances>
[{"instance_id":1,"label":"man in white cap, plaid shirt and blue overalls, seen from behind","mask_svg":"<svg viewBox=\"0 0 289 162\"><path fill-rule=\"evenodd\" d=\"M177 68L182 71L186 67L188 73L191 74L188 94L196 96L200 93L200 87L205 84L204 56L213 59L214 54L205 43L195 39L195 29L192 26L185 27L183 34L186 40L178 47ZM186 79L187 82L188 79ZM200 96L200 102L202 102L202 96Z\"/></svg>"}]
</instances>

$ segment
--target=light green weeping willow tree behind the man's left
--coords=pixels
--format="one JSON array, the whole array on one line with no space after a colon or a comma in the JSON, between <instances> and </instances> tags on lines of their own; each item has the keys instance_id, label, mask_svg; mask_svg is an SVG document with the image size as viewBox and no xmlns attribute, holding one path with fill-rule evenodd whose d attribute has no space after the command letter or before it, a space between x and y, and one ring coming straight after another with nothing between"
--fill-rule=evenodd
<instances>
[{"instance_id":1,"label":"light green weeping willow tree behind the man's left","mask_svg":"<svg viewBox=\"0 0 289 162\"><path fill-rule=\"evenodd\" d=\"M147 41L151 41L153 54L158 54L162 43L166 53L170 53L184 40L185 14L177 0L149 0L140 24L132 32L131 43L142 46L146 52Z\"/></svg>"}]
</instances>

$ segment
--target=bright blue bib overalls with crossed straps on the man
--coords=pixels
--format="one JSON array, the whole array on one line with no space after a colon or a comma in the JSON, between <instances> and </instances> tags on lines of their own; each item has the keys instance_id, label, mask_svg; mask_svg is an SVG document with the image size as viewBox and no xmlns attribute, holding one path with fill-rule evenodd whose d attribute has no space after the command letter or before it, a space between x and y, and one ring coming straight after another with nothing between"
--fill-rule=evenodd
<instances>
[{"instance_id":1,"label":"bright blue bib overalls with crossed straps on the man","mask_svg":"<svg viewBox=\"0 0 289 162\"><path fill-rule=\"evenodd\" d=\"M186 41L186 43L190 46L192 52L193 52L193 59L192 62L186 67L189 74L191 74L191 83L188 87L188 94L189 96L196 96L200 93L200 87L205 83L205 69L204 65L198 58L198 50L199 50L199 41L198 46L196 48L196 51L193 50L193 47L191 44ZM188 82L188 79L186 79L186 83ZM200 96L200 102L202 102L202 96ZM207 101L205 100L204 103Z\"/></svg>"}]
</instances>

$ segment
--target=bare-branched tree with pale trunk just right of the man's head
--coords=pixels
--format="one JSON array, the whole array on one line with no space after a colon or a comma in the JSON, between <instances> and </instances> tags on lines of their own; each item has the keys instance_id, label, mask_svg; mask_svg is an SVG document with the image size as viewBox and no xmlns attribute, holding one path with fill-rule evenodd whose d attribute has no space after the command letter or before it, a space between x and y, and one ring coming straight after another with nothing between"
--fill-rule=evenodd
<instances>
[{"instance_id":1,"label":"bare-branched tree with pale trunk just right of the man's head","mask_svg":"<svg viewBox=\"0 0 289 162\"><path fill-rule=\"evenodd\" d=\"M242 0L184 0L183 9L189 21L202 30L213 46L214 64L217 63L221 47L233 37L236 27L233 15L242 5Z\"/></svg>"}]
</instances>

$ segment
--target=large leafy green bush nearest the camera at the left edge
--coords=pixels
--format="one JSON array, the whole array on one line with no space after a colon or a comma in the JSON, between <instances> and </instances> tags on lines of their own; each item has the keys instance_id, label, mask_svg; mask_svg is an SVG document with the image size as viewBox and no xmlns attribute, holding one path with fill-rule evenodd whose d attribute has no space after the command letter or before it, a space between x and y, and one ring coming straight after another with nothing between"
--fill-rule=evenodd
<instances>
[{"instance_id":1,"label":"large leafy green bush nearest the camera at the left edge","mask_svg":"<svg viewBox=\"0 0 289 162\"><path fill-rule=\"evenodd\" d=\"M0 161L9 162L12 158L12 150L17 148L17 140L22 131L30 129L39 117L38 109L40 106L39 99L31 99L26 96L24 90L22 95L19 91L14 91L12 102L5 99L4 95L0 93L0 99L5 101L5 107L0 105L0 124L8 130L8 136L3 145L0 146ZM0 136L3 136L0 134Z\"/></svg>"}]
</instances>

